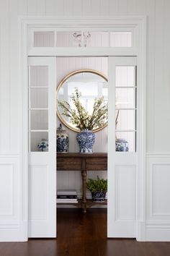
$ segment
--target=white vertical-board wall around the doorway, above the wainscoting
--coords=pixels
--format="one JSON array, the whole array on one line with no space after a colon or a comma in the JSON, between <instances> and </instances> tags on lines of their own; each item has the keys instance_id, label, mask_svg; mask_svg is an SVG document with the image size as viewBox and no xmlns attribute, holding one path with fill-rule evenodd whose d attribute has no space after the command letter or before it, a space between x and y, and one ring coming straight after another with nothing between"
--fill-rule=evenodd
<instances>
[{"instance_id":1,"label":"white vertical-board wall around the doorway, above the wainscoting","mask_svg":"<svg viewBox=\"0 0 170 256\"><path fill-rule=\"evenodd\" d=\"M147 30L147 150L169 151L169 0L0 1L0 151L20 150L22 85L18 75L19 15L145 14Z\"/></svg>"}]
</instances>

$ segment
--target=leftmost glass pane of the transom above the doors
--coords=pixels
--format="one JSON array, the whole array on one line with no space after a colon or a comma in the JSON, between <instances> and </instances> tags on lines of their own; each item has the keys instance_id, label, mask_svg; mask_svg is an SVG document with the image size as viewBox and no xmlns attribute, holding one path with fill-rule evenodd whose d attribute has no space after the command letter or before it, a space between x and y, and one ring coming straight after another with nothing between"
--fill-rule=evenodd
<instances>
[{"instance_id":1,"label":"leftmost glass pane of the transom above the doors","mask_svg":"<svg viewBox=\"0 0 170 256\"><path fill-rule=\"evenodd\" d=\"M53 47L54 31L36 31L34 33L34 47Z\"/></svg>"}]
</instances>

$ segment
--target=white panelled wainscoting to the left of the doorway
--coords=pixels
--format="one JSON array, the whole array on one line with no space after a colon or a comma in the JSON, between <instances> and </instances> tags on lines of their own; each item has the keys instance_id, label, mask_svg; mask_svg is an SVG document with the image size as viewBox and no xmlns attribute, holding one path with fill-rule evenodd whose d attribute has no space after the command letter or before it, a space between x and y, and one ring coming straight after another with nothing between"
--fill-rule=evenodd
<instances>
[{"instance_id":1,"label":"white panelled wainscoting to the left of the doorway","mask_svg":"<svg viewBox=\"0 0 170 256\"><path fill-rule=\"evenodd\" d=\"M22 216L22 170L19 153L0 155L0 241L23 241L27 222ZM22 221L21 221L22 219ZM27 235L27 234L26 234ZM27 240L27 236L25 236Z\"/></svg>"}]
</instances>

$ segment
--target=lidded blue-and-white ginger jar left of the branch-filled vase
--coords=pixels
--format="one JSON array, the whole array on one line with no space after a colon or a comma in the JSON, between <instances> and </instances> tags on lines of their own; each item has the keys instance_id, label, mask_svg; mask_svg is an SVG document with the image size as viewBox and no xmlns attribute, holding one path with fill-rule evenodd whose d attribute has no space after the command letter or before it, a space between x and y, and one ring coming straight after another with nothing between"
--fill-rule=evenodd
<instances>
[{"instance_id":1,"label":"lidded blue-and-white ginger jar left of the branch-filled vase","mask_svg":"<svg viewBox=\"0 0 170 256\"><path fill-rule=\"evenodd\" d=\"M57 129L57 152L68 153L68 133L63 129L62 124Z\"/></svg>"}]
</instances>

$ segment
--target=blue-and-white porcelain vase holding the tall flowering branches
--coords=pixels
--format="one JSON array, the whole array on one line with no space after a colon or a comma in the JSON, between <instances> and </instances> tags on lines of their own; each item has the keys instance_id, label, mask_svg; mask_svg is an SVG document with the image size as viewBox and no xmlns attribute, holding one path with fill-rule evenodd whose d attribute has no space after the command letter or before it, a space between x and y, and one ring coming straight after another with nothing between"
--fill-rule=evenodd
<instances>
[{"instance_id":1,"label":"blue-and-white porcelain vase holding the tall flowering branches","mask_svg":"<svg viewBox=\"0 0 170 256\"><path fill-rule=\"evenodd\" d=\"M80 153L93 153L93 145L95 141L95 134L89 130L84 130L76 135L79 143Z\"/></svg>"}]
</instances>

